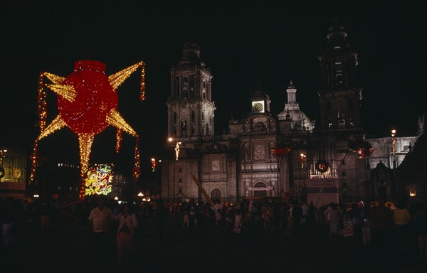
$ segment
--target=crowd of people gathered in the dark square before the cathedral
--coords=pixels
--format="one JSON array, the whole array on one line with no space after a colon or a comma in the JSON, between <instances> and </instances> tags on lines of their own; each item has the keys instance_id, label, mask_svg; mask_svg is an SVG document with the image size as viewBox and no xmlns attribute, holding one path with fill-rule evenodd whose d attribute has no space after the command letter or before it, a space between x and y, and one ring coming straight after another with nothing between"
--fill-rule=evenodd
<instances>
[{"instance_id":1,"label":"crowd of people gathered in the dark square before the cathedral","mask_svg":"<svg viewBox=\"0 0 427 273\"><path fill-rule=\"evenodd\" d=\"M180 232L212 232L226 237L242 233L259 232L270 237L310 240L323 236L330 242L352 240L367 247L381 246L395 252L408 252L416 247L419 258L427 260L426 205L406 200L392 210L379 200L378 205L353 203L346 208L342 203L330 203L319 208L312 202L299 200L259 202L243 200L241 203L196 202L194 198L181 203L152 202L117 203L100 197L84 202L64 203L60 200L0 199L1 247L7 251L16 245L28 229L36 229L48 237L57 223L74 218L85 224L86 235L95 259L109 255L115 247L117 265L126 267L137 243L137 230L144 223L152 223L162 243L163 230L168 218L179 219Z\"/></svg>"}]
</instances>

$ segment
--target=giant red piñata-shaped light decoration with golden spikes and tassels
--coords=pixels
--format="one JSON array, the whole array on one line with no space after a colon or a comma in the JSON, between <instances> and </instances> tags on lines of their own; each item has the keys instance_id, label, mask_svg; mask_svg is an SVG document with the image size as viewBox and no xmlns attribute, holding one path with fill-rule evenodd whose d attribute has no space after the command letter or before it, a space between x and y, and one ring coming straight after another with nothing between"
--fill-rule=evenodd
<instances>
[{"instance_id":1,"label":"giant red pi\u00f1ata-shaped light decoration with golden spikes and tassels","mask_svg":"<svg viewBox=\"0 0 427 273\"><path fill-rule=\"evenodd\" d=\"M135 145L135 165L133 176L139 177L139 136L132 127L117 112L118 97L117 87L127 77L141 67L141 85L139 100L145 96L145 64L139 62L125 68L113 75L105 75L105 63L95 60L80 60L75 62L74 71L68 77L60 77L51 73L43 72L38 81L38 116L40 118L38 127L41 134L37 137L33 156L31 157L31 175L28 183L32 183L37 164L38 141L49 134L69 127L78 135L80 147L80 199L85 196L83 176L88 171L88 163L93 140L96 134L102 132L106 127L112 125L117 128L116 152L120 149L122 132L127 132L137 137ZM43 83L46 77L51 84ZM46 88L58 95L58 116L46 127Z\"/></svg>"}]
</instances>

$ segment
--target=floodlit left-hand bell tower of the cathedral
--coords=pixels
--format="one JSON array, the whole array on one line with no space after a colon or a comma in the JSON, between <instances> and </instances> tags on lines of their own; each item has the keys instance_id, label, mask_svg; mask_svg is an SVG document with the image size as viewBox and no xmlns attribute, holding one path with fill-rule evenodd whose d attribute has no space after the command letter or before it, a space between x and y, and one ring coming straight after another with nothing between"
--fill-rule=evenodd
<instances>
[{"instance_id":1,"label":"floodlit left-hand bell tower of the cathedral","mask_svg":"<svg viewBox=\"0 0 427 273\"><path fill-rule=\"evenodd\" d=\"M167 100L168 135L180 141L198 141L214 135L215 103L212 75L201 61L193 37L184 43L182 58L173 65L171 94Z\"/></svg>"}]
</instances>

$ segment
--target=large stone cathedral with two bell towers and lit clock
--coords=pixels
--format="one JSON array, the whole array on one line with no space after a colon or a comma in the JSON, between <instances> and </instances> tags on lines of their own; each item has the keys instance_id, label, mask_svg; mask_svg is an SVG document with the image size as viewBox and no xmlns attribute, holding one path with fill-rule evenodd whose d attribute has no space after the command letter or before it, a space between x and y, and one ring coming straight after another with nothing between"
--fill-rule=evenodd
<instances>
[{"instance_id":1,"label":"large stone cathedral with two bell towers and lit clock","mask_svg":"<svg viewBox=\"0 0 427 273\"><path fill-rule=\"evenodd\" d=\"M318 122L302 112L290 80L283 112L274 117L270 97L258 88L251 96L251 113L231 117L228 130L215 135L213 75L190 38L171 69L167 153L174 157L162 161L162 198L206 202L207 194L238 202L271 196L315 205L374 200L377 193L369 178L373 148L364 139L357 52L337 20L327 41L318 56Z\"/></svg>"}]
</instances>

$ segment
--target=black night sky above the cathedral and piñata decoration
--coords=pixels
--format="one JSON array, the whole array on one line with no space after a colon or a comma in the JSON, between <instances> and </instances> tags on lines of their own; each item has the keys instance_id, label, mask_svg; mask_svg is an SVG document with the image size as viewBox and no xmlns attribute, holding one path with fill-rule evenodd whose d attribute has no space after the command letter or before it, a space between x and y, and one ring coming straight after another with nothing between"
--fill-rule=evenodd
<instances>
[{"instance_id":1,"label":"black night sky above the cathedral and pi\u00f1ata decoration","mask_svg":"<svg viewBox=\"0 0 427 273\"><path fill-rule=\"evenodd\" d=\"M216 134L230 114L248 112L260 83L283 111L293 80L297 102L318 119L317 55L326 45L334 11L359 52L359 80L367 137L416 134L426 112L426 16L423 1L1 1L0 145L32 148L38 75L66 77L76 60L100 60L107 75L147 63L147 100L138 101L139 70L117 90L119 112L141 136L142 168L159 156L167 138L169 70L189 36L214 76ZM48 91L48 122L56 117ZM40 142L52 159L78 163L78 139L68 128ZM115 155L115 129L95 136L91 161L115 163L130 175L135 138L123 134Z\"/></svg>"}]
</instances>

